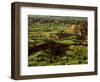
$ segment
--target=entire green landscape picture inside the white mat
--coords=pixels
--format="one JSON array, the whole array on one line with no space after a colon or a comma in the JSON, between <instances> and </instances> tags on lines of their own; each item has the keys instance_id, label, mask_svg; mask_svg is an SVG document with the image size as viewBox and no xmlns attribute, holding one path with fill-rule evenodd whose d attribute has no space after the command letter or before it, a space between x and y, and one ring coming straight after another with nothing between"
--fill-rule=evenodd
<instances>
[{"instance_id":1,"label":"entire green landscape picture inside the white mat","mask_svg":"<svg viewBox=\"0 0 100 82\"><path fill-rule=\"evenodd\" d=\"M87 64L87 45L85 17L28 17L28 66Z\"/></svg>"}]
</instances>

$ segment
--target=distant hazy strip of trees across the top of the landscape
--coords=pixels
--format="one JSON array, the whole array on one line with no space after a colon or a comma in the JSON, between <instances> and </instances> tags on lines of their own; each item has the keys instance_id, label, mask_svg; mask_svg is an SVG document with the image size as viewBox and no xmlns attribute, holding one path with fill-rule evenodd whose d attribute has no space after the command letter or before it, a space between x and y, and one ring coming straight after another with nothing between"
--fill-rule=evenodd
<instances>
[{"instance_id":1,"label":"distant hazy strip of trees across the top of the landscape","mask_svg":"<svg viewBox=\"0 0 100 82\"><path fill-rule=\"evenodd\" d=\"M29 24L80 24L87 21L87 17L65 16L32 16L29 15Z\"/></svg>"}]
</instances>

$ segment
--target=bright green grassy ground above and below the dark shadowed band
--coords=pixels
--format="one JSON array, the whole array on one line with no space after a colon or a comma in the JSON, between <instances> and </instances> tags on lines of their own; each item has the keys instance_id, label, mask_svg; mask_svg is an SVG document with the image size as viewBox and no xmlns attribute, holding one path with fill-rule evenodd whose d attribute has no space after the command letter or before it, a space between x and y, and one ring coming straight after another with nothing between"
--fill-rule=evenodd
<instances>
[{"instance_id":1,"label":"bright green grassy ground above and below the dark shadowed band","mask_svg":"<svg viewBox=\"0 0 100 82\"><path fill-rule=\"evenodd\" d=\"M62 25L31 25L29 27L29 47L45 43L46 39L50 39L50 34L61 32L64 30ZM49 31L48 31L49 30ZM52 39L52 38L51 38ZM64 37L62 39L54 39L59 44L78 44L77 36ZM82 42L82 40L80 40ZM28 57L29 66L47 66L47 65L65 65L65 64L86 64L87 63L87 46L72 45L69 50L54 56L54 53L47 49L45 51L33 52Z\"/></svg>"}]
</instances>

